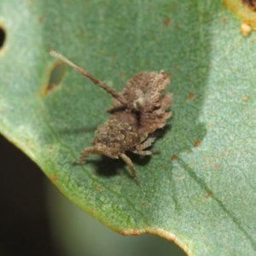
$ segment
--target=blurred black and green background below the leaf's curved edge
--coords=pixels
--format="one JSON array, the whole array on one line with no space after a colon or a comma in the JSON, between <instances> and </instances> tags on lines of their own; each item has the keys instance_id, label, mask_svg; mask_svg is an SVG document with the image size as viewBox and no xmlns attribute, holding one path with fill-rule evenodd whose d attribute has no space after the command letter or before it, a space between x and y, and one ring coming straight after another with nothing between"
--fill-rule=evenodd
<instances>
[{"instance_id":1,"label":"blurred black and green background below the leaf's curved edge","mask_svg":"<svg viewBox=\"0 0 256 256\"><path fill-rule=\"evenodd\" d=\"M68 201L0 135L0 255L177 255L158 236L120 236Z\"/></svg>"}]
</instances>

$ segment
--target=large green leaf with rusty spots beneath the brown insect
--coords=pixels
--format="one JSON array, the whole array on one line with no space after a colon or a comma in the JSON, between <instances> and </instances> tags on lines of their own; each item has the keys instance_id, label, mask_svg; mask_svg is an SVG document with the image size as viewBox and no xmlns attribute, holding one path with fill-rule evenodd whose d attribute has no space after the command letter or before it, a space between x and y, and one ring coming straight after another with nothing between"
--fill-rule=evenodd
<instances>
[{"instance_id":1,"label":"large green leaf with rusty spots beneath the brown insect","mask_svg":"<svg viewBox=\"0 0 256 256\"><path fill-rule=\"evenodd\" d=\"M3 0L1 132L121 234L154 233L189 255L253 255L256 37L240 25L221 1ZM140 187L121 160L72 165L112 100L50 48L116 90L141 71L172 73L160 154L131 156Z\"/></svg>"}]
</instances>

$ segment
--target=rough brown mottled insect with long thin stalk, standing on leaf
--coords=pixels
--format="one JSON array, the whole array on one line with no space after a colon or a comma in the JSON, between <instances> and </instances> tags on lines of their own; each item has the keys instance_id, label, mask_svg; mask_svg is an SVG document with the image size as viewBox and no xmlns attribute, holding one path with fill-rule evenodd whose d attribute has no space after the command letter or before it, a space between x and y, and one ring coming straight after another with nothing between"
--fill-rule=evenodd
<instances>
[{"instance_id":1,"label":"rough brown mottled insect with long thin stalk, standing on leaf","mask_svg":"<svg viewBox=\"0 0 256 256\"><path fill-rule=\"evenodd\" d=\"M130 167L135 182L139 184L135 168L125 151L141 155L154 153L143 149L151 146L156 138L154 131L164 127L166 119L172 116L172 112L166 112L172 105L172 95L162 94L170 84L169 77L164 71L138 73L119 93L54 50L50 50L50 55L66 62L113 96L113 108L108 109L111 115L97 128L94 147L84 148L75 164L86 164L89 154L104 154L113 159L120 157Z\"/></svg>"}]
</instances>

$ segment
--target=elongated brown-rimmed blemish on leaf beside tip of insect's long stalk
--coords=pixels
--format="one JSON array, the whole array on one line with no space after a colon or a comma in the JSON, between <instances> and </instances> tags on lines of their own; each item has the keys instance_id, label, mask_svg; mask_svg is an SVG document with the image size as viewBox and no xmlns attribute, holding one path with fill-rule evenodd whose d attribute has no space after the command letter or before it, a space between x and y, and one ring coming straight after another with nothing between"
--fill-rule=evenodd
<instances>
[{"instance_id":1,"label":"elongated brown-rimmed blemish on leaf beside tip of insect's long stalk","mask_svg":"<svg viewBox=\"0 0 256 256\"><path fill-rule=\"evenodd\" d=\"M65 66L60 61L55 62L55 64L50 68L48 84L44 87L43 91L44 96L49 95L49 93L61 83L64 71Z\"/></svg>"}]
</instances>

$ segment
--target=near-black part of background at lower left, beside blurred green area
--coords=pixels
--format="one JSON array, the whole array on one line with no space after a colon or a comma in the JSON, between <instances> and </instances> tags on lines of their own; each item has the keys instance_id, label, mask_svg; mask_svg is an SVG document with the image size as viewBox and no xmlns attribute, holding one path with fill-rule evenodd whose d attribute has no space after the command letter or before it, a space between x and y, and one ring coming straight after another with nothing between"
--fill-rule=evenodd
<instances>
[{"instance_id":1,"label":"near-black part of background at lower left, beside blurred green area","mask_svg":"<svg viewBox=\"0 0 256 256\"><path fill-rule=\"evenodd\" d=\"M45 204L46 178L0 135L0 255L56 255Z\"/></svg>"}]
</instances>

